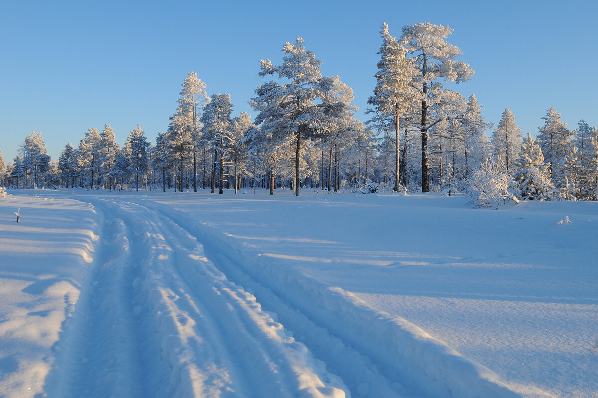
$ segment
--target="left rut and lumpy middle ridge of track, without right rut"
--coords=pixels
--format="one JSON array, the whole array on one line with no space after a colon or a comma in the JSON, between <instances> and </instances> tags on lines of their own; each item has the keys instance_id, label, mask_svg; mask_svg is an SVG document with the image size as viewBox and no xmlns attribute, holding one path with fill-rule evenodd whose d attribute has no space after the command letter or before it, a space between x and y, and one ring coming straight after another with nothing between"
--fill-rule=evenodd
<instances>
[{"instance_id":1,"label":"left rut and lumpy middle ridge of track, without right rut","mask_svg":"<svg viewBox=\"0 0 598 398\"><path fill-rule=\"evenodd\" d=\"M105 247L49 396L350 395L185 230L133 203L92 203Z\"/></svg>"}]
</instances>

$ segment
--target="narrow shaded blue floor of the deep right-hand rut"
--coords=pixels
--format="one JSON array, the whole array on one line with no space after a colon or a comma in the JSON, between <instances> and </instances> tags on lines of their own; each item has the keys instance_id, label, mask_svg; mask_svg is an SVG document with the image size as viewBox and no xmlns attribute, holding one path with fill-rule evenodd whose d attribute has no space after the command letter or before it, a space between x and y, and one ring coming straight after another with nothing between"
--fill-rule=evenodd
<instances>
[{"instance_id":1,"label":"narrow shaded blue floor of the deep right-hand rut","mask_svg":"<svg viewBox=\"0 0 598 398\"><path fill-rule=\"evenodd\" d=\"M143 208L147 214L161 221L161 228L167 227L172 232L182 233L193 237L194 241L202 241L202 236L194 235L182 224L173 219L172 215L164 212L160 206L149 207L144 202L136 201L136 205ZM368 356L368 353L353 347L334 335L329 329L310 318L302 308L292 305L285 298L274 293L275 288L263 285L261 281L249 275L242 266L216 247L210 247L202 242L206 256L226 278L234 284L251 291L265 311L277 314L277 320L283 324L289 333L296 336L305 344L316 358L324 361L329 372L340 376L344 384L349 387L353 397L408 397L420 396L420 391L408 393L400 381L392 376L392 369L386 369L386 374L379 371L383 365Z\"/></svg>"}]
</instances>

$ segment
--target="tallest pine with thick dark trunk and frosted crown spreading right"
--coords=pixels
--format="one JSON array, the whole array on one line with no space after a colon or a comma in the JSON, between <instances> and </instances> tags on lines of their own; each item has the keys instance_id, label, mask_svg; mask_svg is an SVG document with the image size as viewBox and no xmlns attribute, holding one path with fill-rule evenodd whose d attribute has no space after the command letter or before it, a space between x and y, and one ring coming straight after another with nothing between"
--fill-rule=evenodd
<instances>
[{"instance_id":1,"label":"tallest pine with thick dark trunk and frosted crown spreading right","mask_svg":"<svg viewBox=\"0 0 598 398\"><path fill-rule=\"evenodd\" d=\"M446 119L445 115L435 115L431 105L440 101L442 84L438 81L462 83L468 81L474 74L465 62L454 59L462 52L456 45L451 45L445 39L453 32L448 26L432 25L429 22L404 26L401 40L407 41L405 47L409 53L414 53L414 65L417 69L414 87L418 90L418 100L421 101L419 130L422 138L422 192L430 190L430 169L428 138L432 126Z\"/></svg>"}]
</instances>

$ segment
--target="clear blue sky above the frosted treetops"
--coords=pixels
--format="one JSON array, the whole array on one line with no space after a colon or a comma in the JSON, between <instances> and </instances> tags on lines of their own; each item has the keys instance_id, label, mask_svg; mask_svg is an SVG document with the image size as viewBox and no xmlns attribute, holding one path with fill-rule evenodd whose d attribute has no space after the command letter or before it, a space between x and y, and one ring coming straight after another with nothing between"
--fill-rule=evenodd
<instances>
[{"instance_id":1,"label":"clear blue sky above the frosted treetops","mask_svg":"<svg viewBox=\"0 0 598 398\"><path fill-rule=\"evenodd\" d=\"M235 113L303 37L324 75L353 88L359 119L376 79L387 22L449 25L449 42L475 69L456 86L475 93L487 121L510 108L536 133L550 106L569 128L598 125L598 2L594 1L9 1L0 0L0 150L8 163L31 131L57 159L90 127L110 123L122 143L141 124L155 141L197 72L209 94L230 93Z\"/></svg>"}]
</instances>

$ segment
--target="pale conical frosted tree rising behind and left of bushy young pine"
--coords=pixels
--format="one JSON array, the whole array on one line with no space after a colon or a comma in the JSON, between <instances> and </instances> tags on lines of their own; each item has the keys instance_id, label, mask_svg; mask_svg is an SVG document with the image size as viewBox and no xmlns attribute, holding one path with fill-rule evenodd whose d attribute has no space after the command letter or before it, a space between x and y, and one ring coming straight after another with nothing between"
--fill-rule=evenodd
<instances>
[{"instance_id":1,"label":"pale conical frosted tree rising behind and left of bushy young pine","mask_svg":"<svg viewBox=\"0 0 598 398\"><path fill-rule=\"evenodd\" d=\"M515 124L515 116L509 108L505 108L498 128L492 133L492 147L494 156L502 160L507 174L513 175L517 168L521 136L521 129Z\"/></svg>"}]
</instances>

